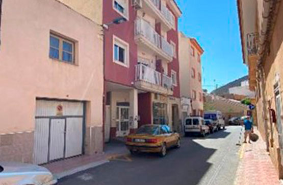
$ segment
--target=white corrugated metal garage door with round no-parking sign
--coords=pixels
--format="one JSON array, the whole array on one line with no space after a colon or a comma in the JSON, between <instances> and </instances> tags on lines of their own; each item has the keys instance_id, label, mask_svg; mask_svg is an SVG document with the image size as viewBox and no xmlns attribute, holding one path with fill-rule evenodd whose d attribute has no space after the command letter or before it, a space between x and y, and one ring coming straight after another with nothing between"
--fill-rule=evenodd
<instances>
[{"instance_id":1,"label":"white corrugated metal garage door with round no-parking sign","mask_svg":"<svg viewBox=\"0 0 283 185\"><path fill-rule=\"evenodd\" d=\"M84 119L83 102L37 100L34 163L81 155Z\"/></svg>"}]
</instances>

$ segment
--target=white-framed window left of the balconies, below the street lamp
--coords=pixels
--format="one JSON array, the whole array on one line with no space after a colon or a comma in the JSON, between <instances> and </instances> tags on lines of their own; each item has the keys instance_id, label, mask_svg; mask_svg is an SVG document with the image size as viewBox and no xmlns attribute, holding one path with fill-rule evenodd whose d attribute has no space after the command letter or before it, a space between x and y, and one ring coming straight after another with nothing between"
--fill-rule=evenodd
<instances>
[{"instance_id":1,"label":"white-framed window left of the balconies, below the street lamp","mask_svg":"<svg viewBox=\"0 0 283 185\"><path fill-rule=\"evenodd\" d=\"M113 36L113 61L117 64L128 67L128 51L128 43L116 36Z\"/></svg>"}]
</instances>

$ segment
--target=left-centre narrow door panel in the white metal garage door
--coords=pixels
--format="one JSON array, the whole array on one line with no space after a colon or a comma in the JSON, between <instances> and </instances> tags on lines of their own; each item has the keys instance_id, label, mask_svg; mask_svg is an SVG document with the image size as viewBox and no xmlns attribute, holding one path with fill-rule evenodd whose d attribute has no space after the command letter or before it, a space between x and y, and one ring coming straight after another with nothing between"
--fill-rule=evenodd
<instances>
[{"instance_id":1,"label":"left-centre narrow door panel in the white metal garage door","mask_svg":"<svg viewBox=\"0 0 283 185\"><path fill-rule=\"evenodd\" d=\"M65 119L51 119L49 161L64 158Z\"/></svg>"}]
</instances>

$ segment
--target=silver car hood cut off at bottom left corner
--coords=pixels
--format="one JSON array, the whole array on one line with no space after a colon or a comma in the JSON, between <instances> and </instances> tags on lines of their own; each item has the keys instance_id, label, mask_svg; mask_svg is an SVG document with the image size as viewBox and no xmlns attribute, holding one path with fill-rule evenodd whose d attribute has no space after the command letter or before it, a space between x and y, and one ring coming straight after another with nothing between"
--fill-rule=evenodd
<instances>
[{"instance_id":1,"label":"silver car hood cut off at bottom left corner","mask_svg":"<svg viewBox=\"0 0 283 185\"><path fill-rule=\"evenodd\" d=\"M51 185L57 183L46 168L15 162L0 162L0 184Z\"/></svg>"}]
</instances>

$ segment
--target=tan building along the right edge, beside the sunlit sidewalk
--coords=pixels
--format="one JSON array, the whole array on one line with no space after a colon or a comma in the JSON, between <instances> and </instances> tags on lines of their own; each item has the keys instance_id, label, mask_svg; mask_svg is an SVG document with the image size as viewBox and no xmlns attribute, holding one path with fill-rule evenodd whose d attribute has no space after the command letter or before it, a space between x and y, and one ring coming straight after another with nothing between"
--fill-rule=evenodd
<instances>
[{"instance_id":1,"label":"tan building along the right edge, beside the sunlit sidewalk","mask_svg":"<svg viewBox=\"0 0 283 185\"><path fill-rule=\"evenodd\" d=\"M256 94L259 130L283 178L283 3L238 0L243 58ZM269 15L269 16L264 16Z\"/></svg>"}]
</instances>

